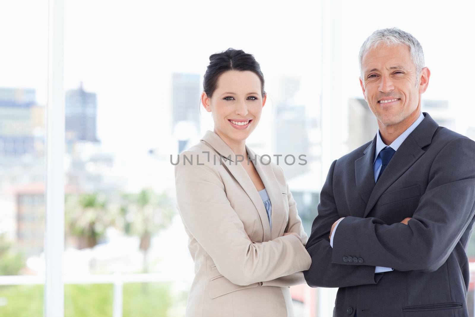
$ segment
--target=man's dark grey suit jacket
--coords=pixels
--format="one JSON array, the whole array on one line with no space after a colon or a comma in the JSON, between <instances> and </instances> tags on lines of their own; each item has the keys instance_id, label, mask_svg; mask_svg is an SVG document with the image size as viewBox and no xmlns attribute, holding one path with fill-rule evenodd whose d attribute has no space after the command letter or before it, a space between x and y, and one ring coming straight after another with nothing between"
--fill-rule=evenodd
<instances>
[{"instance_id":1,"label":"man's dark grey suit jacket","mask_svg":"<svg viewBox=\"0 0 475 317\"><path fill-rule=\"evenodd\" d=\"M376 184L376 137L330 167L304 276L312 287L340 288L333 316L468 317L475 142L424 115Z\"/></svg>"}]
</instances>

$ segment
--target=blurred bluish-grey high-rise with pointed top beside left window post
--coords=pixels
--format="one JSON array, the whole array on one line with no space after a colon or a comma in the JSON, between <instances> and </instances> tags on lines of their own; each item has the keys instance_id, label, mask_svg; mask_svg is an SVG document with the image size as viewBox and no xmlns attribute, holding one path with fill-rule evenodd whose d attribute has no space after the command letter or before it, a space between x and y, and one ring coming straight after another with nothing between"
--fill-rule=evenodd
<instances>
[{"instance_id":1,"label":"blurred bluish-grey high-rise with pointed top beside left window post","mask_svg":"<svg viewBox=\"0 0 475 317\"><path fill-rule=\"evenodd\" d=\"M97 98L83 85L66 91L66 139L98 142L96 132Z\"/></svg>"}]
</instances>

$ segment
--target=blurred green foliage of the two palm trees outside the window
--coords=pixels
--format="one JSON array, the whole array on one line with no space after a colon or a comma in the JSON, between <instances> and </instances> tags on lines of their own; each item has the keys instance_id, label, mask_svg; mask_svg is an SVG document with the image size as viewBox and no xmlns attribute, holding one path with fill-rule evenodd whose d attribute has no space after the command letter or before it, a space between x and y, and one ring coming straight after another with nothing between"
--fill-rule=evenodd
<instances>
[{"instance_id":1,"label":"blurred green foliage of the two palm trees outside the window","mask_svg":"<svg viewBox=\"0 0 475 317\"><path fill-rule=\"evenodd\" d=\"M140 237L140 250L147 252L152 236L170 225L171 199L165 193L142 189L119 198L100 193L68 194L65 197L66 237L76 238L78 249L92 248L115 225L125 234Z\"/></svg>"}]
</instances>

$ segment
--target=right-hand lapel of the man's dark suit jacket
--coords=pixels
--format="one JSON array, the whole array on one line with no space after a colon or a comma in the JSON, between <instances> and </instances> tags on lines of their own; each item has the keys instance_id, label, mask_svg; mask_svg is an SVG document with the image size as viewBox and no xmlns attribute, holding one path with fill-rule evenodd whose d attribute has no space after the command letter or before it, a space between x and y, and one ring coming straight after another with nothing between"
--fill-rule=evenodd
<instances>
[{"instance_id":1,"label":"right-hand lapel of the man's dark suit jacket","mask_svg":"<svg viewBox=\"0 0 475 317\"><path fill-rule=\"evenodd\" d=\"M437 123L428 115L425 114L424 120L408 135L406 140L399 146L388 166L382 173L380 179L374 185L370 198L364 211L366 217L371 209L378 202L381 195L393 184L402 174L404 174L409 167L411 167L426 151L422 150L432 141L432 136L437 130ZM374 155L374 150L373 150ZM373 178L374 183L374 178Z\"/></svg>"}]
</instances>

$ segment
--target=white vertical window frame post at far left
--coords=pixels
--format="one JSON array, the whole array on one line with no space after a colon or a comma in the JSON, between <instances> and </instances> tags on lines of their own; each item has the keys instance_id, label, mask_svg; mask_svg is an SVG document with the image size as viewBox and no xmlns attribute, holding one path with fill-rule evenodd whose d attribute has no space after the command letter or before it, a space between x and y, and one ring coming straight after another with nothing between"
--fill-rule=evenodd
<instances>
[{"instance_id":1,"label":"white vertical window frame post at far left","mask_svg":"<svg viewBox=\"0 0 475 317\"><path fill-rule=\"evenodd\" d=\"M49 0L43 316L64 316L64 0Z\"/></svg>"}]
</instances>

